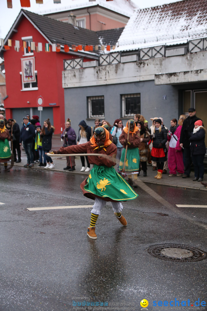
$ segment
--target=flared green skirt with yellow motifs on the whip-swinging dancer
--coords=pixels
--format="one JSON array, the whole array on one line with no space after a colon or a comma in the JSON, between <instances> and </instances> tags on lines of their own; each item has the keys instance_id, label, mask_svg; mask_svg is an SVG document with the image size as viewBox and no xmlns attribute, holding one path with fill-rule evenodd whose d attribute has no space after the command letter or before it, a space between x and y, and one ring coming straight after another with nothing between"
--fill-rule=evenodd
<instances>
[{"instance_id":1,"label":"flared green skirt with yellow motifs on the whip-swinging dancer","mask_svg":"<svg viewBox=\"0 0 207 311\"><path fill-rule=\"evenodd\" d=\"M138 197L114 167L105 165L94 165L83 189L96 197L109 198L113 201L127 201Z\"/></svg>"}]
</instances>

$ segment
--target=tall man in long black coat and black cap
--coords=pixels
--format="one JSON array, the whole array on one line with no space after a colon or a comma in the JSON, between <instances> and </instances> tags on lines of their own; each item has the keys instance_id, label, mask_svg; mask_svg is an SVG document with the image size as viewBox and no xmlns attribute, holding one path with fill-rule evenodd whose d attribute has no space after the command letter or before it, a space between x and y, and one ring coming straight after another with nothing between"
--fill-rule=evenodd
<instances>
[{"instance_id":1,"label":"tall man in long black coat and black cap","mask_svg":"<svg viewBox=\"0 0 207 311\"><path fill-rule=\"evenodd\" d=\"M183 147L183 155L185 161L185 171L182 178L190 177L191 173L191 151L190 151L190 133L193 132L194 123L197 120L201 120L200 118L196 117L196 109L191 107L188 109L189 116L183 121L182 130L180 133L180 146ZM202 120L201 120L202 121ZM203 121L202 121L203 122Z\"/></svg>"}]
</instances>

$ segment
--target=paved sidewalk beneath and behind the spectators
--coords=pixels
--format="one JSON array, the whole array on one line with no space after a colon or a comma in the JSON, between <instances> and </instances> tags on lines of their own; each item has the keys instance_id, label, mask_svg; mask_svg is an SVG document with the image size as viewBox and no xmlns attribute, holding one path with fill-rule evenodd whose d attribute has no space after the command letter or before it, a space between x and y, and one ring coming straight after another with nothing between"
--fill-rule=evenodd
<instances>
[{"instance_id":1,"label":"paved sidewalk beneath and behind the spectators","mask_svg":"<svg viewBox=\"0 0 207 311\"><path fill-rule=\"evenodd\" d=\"M52 150L58 150L61 146L62 146L62 142L61 142L60 137L54 136L52 138ZM14 163L14 167L15 166L24 166L27 163L27 157L26 157L25 151L22 150L21 152L22 152L21 162L20 163ZM68 170L63 170L63 168L66 167L66 157L64 157L64 156L54 157L53 163L55 164L55 168L52 169L54 171L62 172L65 174L82 174L82 175L84 174L86 176L88 175L88 172L84 172L84 171L80 172L82 164L81 164L79 156L75 158L76 166L75 166L75 171L73 171L73 172L69 172ZM91 168L92 168L92 165L91 165ZM27 169L44 169L44 168L38 167L38 163L36 163L36 164L34 164L34 168L27 168ZM46 170L46 169L44 169L44 170ZM47 169L47 170L50 170L50 169ZM182 178L182 176L169 177L168 176L169 172L167 172L167 174L163 174L162 179L160 179L160 180L155 179L154 178L155 175L156 175L156 171L153 171L152 166L148 165L147 166L147 176L143 177L143 171L141 171L140 176L138 178L145 183L207 191L207 188L205 188L205 186L203 186L200 182L192 181L192 179L194 178L194 172L191 172L191 177L186 178L186 179ZM207 174L204 174L204 181L207 182Z\"/></svg>"}]
</instances>

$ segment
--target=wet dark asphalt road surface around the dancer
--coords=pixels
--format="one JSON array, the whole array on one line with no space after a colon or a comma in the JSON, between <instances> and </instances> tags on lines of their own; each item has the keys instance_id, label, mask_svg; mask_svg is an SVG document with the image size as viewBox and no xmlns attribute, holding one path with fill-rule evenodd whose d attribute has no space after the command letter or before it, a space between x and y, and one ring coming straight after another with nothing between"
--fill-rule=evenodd
<instances>
[{"instance_id":1,"label":"wet dark asphalt road surface around the dancer","mask_svg":"<svg viewBox=\"0 0 207 311\"><path fill-rule=\"evenodd\" d=\"M194 305L199 298L207 304L207 259L179 263L146 251L154 244L175 243L206 252L207 230L198 223L207 225L207 209L177 208L189 220L137 188L139 197L123 203L127 227L109 203L97 220L97 240L86 234L90 208L27 210L92 205L79 187L84 178L17 167L1 173L0 311L101 310L104 304L140 310L143 298L148 310L157 311L162 308L153 307L155 300L190 299ZM206 204L205 191L148 186L174 206ZM84 301L98 306L78 305Z\"/></svg>"}]
</instances>

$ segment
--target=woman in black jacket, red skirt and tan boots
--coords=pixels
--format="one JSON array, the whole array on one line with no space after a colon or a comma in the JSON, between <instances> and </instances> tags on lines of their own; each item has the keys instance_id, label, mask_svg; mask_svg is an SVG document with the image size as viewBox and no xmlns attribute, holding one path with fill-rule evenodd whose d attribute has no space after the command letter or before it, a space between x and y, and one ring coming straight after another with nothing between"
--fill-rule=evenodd
<instances>
[{"instance_id":1,"label":"woman in black jacket, red skirt and tan boots","mask_svg":"<svg viewBox=\"0 0 207 311\"><path fill-rule=\"evenodd\" d=\"M162 120L156 119L151 152L152 161L155 161L157 163L158 171L157 175L155 176L156 179L162 178L164 162L167 160L165 145L167 140L167 130L162 125Z\"/></svg>"}]
</instances>

